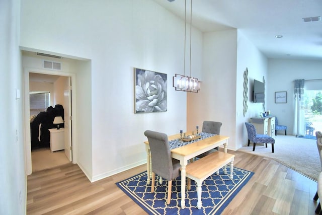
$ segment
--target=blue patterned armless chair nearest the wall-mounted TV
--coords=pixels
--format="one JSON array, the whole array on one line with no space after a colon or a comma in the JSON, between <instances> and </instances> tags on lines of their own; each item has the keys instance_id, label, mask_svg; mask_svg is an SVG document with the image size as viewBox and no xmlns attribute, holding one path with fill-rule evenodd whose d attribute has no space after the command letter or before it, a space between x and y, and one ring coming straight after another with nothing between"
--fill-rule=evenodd
<instances>
[{"instance_id":1,"label":"blue patterned armless chair nearest the wall-mounted TV","mask_svg":"<svg viewBox=\"0 0 322 215\"><path fill-rule=\"evenodd\" d=\"M253 124L245 122L248 134L248 146L250 146L251 141L254 143L253 151L255 151L256 144L272 144L272 153L274 153L275 139L266 134L257 134L256 128Z\"/></svg>"}]
</instances>

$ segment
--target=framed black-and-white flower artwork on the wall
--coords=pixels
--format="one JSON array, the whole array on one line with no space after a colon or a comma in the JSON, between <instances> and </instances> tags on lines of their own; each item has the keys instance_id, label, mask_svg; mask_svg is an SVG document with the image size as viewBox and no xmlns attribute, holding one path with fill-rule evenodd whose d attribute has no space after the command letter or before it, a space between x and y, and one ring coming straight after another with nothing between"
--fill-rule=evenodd
<instances>
[{"instance_id":1,"label":"framed black-and-white flower artwork on the wall","mask_svg":"<svg viewBox=\"0 0 322 215\"><path fill-rule=\"evenodd\" d=\"M167 111L167 74L134 68L135 113Z\"/></svg>"}]
</instances>

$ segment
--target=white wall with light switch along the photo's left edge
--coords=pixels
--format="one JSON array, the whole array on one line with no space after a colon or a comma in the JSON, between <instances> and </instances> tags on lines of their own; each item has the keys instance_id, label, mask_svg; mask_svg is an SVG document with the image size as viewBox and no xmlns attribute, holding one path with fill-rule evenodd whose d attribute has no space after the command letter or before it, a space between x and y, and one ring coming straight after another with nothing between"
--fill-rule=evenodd
<instances>
[{"instance_id":1,"label":"white wall with light switch along the photo's left edge","mask_svg":"<svg viewBox=\"0 0 322 215\"><path fill-rule=\"evenodd\" d=\"M0 214L24 214L27 178L24 165L20 1L0 1ZM29 118L29 116L28 116Z\"/></svg>"}]
</instances>

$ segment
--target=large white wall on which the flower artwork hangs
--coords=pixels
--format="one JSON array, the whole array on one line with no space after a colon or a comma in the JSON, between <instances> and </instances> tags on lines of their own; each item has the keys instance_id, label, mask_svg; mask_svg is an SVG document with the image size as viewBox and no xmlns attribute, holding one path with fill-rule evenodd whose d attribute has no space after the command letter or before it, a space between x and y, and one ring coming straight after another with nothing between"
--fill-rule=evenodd
<instances>
[{"instance_id":1,"label":"large white wall on which the flower artwork hangs","mask_svg":"<svg viewBox=\"0 0 322 215\"><path fill-rule=\"evenodd\" d=\"M79 98L90 105L79 108L91 111L83 113L91 129L79 135L91 138L81 147L92 180L145 163L144 130L173 134L186 127L186 94L172 87L183 70L184 21L147 0L24 1L21 16L21 46L92 60L90 83L77 84L91 86L92 97ZM201 68L201 60L193 65ZM167 112L134 114L133 67L168 74Z\"/></svg>"}]
</instances>

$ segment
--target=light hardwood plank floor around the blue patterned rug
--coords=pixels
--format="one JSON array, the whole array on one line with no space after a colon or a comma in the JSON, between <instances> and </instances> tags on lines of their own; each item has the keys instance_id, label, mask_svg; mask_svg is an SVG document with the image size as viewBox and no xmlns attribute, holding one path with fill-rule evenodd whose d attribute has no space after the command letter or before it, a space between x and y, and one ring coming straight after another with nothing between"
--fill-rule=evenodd
<instances>
[{"instance_id":1,"label":"light hardwood plank floor around the blue patterned rug","mask_svg":"<svg viewBox=\"0 0 322 215\"><path fill-rule=\"evenodd\" d=\"M248 153L234 154L234 166L255 174L222 212L225 214L315 214L316 182ZM66 164L28 176L27 214L146 214L115 183L146 170L145 165L91 183L77 165Z\"/></svg>"}]
</instances>

